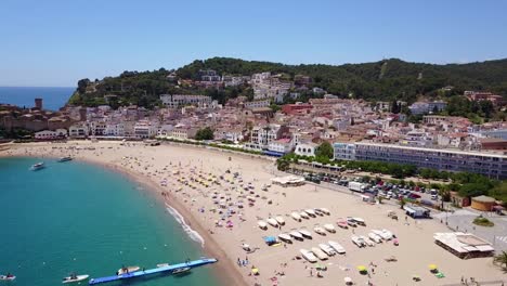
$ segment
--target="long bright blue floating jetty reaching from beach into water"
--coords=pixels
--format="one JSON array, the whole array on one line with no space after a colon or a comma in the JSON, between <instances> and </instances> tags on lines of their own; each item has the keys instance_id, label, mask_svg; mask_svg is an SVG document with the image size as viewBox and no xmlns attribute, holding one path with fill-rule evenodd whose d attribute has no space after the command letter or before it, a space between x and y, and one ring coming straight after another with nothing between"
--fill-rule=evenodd
<instances>
[{"instance_id":1,"label":"long bright blue floating jetty reaching from beach into water","mask_svg":"<svg viewBox=\"0 0 507 286\"><path fill-rule=\"evenodd\" d=\"M157 273L167 273L168 275L178 274L178 273L186 272L193 268L198 268L198 266L204 266L207 264L216 263L217 261L218 260L214 258L203 258L199 260L187 261L187 262L167 265L167 266L159 266L156 269L141 270L141 271L135 271L131 273L125 273L121 275L91 278L88 284L96 285L96 284L102 284L102 283L109 283L109 282L115 282L115 281L142 277L142 276L153 275Z\"/></svg>"}]
</instances>

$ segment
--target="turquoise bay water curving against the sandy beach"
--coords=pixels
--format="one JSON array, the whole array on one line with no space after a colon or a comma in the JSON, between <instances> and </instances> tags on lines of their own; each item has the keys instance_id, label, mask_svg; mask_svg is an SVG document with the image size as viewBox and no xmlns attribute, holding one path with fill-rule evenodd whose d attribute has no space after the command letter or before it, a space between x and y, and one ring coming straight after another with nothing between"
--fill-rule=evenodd
<instances>
[{"instance_id":1,"label":"turquoise bay water curving against the sandy beach","mask_svg":"<svg viewBox=\"0 0 507 286\"><path fill-rule=\"evenodd\" d=\"M203 256L162 204L123 176L48 159L29 171L37 161L0 159L0 273L17 276L1 284L54 286L72 271L109 276L122 264L148 269ZM104 285L219 285L212 268Z\"/></svg>"}]
</instances>

